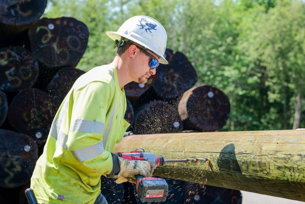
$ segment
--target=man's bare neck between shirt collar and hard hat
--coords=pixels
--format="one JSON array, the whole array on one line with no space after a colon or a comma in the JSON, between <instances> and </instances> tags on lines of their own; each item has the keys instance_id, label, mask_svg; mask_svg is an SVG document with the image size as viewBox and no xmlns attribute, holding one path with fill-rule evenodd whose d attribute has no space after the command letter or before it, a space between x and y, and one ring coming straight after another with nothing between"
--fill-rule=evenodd
<instances>
[{"instance_id":1,"label":"man's bare neck between shirt collar and hard hat","mask_svg":"<svg viewBox=\"0 0 305 204\"><path fill-rule=\"evenodd\" d=\"M128 63L124 64L121 56L116 56L111 64L117 70L117 78L119 80L120 89L122 89L127 83L132 81L127 66Z\"/></svg>"}]
</instances>

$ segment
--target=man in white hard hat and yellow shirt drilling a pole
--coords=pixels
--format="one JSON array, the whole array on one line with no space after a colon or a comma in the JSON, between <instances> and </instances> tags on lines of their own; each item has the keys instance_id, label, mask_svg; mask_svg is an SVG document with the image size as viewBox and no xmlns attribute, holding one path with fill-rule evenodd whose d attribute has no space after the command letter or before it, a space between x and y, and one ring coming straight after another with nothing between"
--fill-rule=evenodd
<instances>
[{"instance_id":1,"label":"man in white hard hat and yellow shirt drilling a pole","mask_svg":"<svg viewBox=\"0 0 305 204\"><path fill-rule=\"evenodd\" d=\"M127 161L113 154L130 125L124 120L124 85L146 83L163 57L167 34L147 16L125 21L115 40L117 55L109 65L79 77L66 95L31 178L39 203L107 203L101 176L135 183L135 175L152 176L149 162Z\"/></svg>"}]
</instances>

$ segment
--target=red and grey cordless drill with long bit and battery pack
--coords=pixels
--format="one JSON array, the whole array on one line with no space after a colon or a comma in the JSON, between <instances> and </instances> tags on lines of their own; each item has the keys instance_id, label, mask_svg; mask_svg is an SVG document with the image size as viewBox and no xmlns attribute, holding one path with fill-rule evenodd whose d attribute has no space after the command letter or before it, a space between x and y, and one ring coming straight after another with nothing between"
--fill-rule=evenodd
<instances>
[{"instance_id":1,"label":"red and grey cordless drill with long bit and battery pack","mask_svg":"<svg viewBox=\"0 0 305 204\"><path fill-rule=\"evenodd\" d=\"M143 151L138 151L142 149ZM117 155L127 160L142 160L148 161L151 169L156 169L157 166L163 166L166 162L206 162L208 159L174 159L164 160L164 157L157 157L153 153L147 153L143 148L137 148L132 152L118 152ZM165 201L168 193L168 184L164 179L156 177L144 177L141 175L135 176L136 190L142 202L160 202Z\"/></svg>"}]
</instances>

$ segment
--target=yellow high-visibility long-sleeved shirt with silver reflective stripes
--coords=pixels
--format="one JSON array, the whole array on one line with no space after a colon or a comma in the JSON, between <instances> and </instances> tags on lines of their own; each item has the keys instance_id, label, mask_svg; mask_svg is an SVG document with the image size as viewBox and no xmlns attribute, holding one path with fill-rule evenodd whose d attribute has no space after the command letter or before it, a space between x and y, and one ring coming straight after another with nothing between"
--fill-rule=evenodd
<instances>
[{"instance_id":1,"label":"yellow high-visibility long-sleeved shirt with silver reflective stripes","mask_svg":"<svg viewBox=\"0 0 305 204\"><path fill-rule=\"evenodd\" d=\"M95 202L100 177L113 168L114 145L130 125L125 111L124 88L111 64L76 80L56 113L31 178L39 203Z\"/></svg>"}]
</instances>

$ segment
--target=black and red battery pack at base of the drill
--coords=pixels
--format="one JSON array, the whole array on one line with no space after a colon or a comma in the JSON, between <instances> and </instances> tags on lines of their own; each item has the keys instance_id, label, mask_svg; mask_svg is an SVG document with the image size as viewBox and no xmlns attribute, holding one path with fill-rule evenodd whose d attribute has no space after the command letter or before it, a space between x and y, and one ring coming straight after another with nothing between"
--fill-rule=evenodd
<instances>
[{"instance_id":1,"label":"black and red battery pack at base of the drill","mask_svg":"<svg viewBox=\"0 0 305 204\"><path fill-rule=\"evenodd\" d=\"M164 179L145 177L137 180L136 189L142 202L165 201L168 185Z\"/></svg>"}]
</instances>

